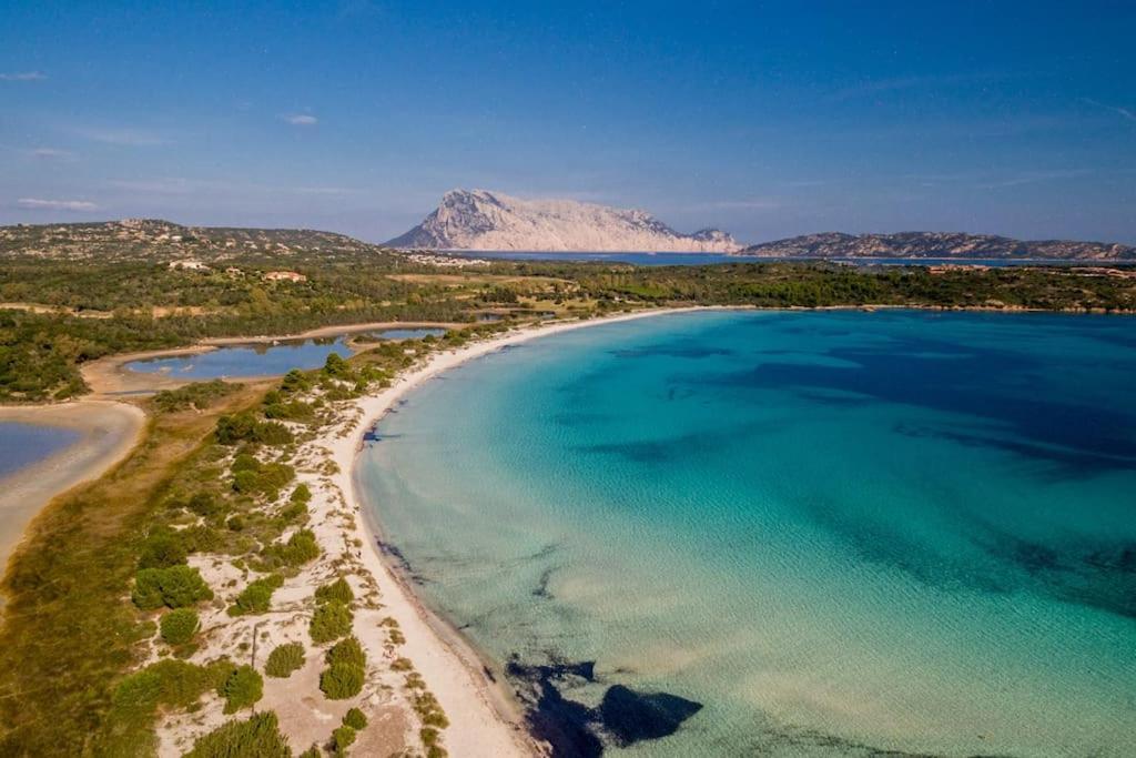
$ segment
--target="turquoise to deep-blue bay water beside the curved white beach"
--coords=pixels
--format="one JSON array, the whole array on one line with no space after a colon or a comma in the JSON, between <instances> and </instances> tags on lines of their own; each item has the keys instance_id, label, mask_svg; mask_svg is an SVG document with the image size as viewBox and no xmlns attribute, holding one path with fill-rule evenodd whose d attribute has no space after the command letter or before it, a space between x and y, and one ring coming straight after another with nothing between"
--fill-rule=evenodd
<instances>
[{"instance_id":1,"label":"turquoise to deep-blue bay water beside the curved white beach","mask_svg":"<svg viewBox=\"0 0 1136 758\"><path fill-rule=\"evenodd\" d=\"M378 428L378 523L487 655L703 705L629 755L1136 755L1131 319L599 325Z\"/></svg>"}]
</instances>

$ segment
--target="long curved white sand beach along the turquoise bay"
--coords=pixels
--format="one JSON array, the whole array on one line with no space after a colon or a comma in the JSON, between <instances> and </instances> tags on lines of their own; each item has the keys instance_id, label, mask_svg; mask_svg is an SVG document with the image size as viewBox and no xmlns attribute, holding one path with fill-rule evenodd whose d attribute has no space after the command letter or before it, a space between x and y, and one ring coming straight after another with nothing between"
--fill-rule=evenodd
<instances>
[{"instance_id":1,"label":"long curved white sand beach along the turquoise bay","mask_svg":"<svg viewBox=\"0 0 1136 758\"><path fill-rule=\"evenodd\" d=\"M461 364L496 352L507 345L551 336L601 324L612 324L669 314L724 310L724 308L667 308L619 314L604 318L560 322L520 330L492 338L484 342L429 356L425 365L400 376L382 392L358 400L356 420L346 434L326 443L332 459L339 466L334 481L348 498L348 505L362 513L356 519L356 535L367 543L364 564L376 580L386 580L392 591L384 592L387 611L394 616L407 634L407 656L421 670L431 690L450 716L446 740L462 756L540 755L537 744L523 725L524 714L502 682L492 672L475 647L450 623L418 598L398 566L384 556L378 547L381 528L377 510L360 495L357 486L356 463L362 451L362 436L407 393L424 382ZM495 747L494 747L495 745Z\"/></svg>"}]
</instances>

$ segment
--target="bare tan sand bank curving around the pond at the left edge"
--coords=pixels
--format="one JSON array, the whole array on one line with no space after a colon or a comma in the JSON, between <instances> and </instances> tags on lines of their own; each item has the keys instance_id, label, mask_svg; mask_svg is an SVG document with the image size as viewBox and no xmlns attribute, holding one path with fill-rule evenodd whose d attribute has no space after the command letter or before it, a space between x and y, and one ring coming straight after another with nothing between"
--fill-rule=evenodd
<instances>
[{"instance_id":1,"label":"bare tan sand bank curving around the pond at the left edge","mask_svg":"<svg viewBox=\"0 0 1136 758\"><path fill-rule=\"evenodd\" d=\"M122 461L141 440L145 414L125 402L78 400L0 407L0 422L57 426L81 434L62 450L0 478L0 567L7 572L8 560L43 507Z\"/></svg>"}]
</instances>

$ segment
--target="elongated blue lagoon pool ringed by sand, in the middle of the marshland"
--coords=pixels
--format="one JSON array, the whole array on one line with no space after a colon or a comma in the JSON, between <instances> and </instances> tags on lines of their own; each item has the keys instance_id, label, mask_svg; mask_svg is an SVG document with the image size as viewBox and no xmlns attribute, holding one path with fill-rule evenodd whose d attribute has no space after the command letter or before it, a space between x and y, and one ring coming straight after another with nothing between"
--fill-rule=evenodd
<instances>
[{"instance_id":1,"label":"elongated blue lagoon pool ringed by sand, in the middle of the marshland","mask_svg":"<svg viewBox=\"0 0 1136 758\"><path fill-rule=\"evenodd\" d=\"M239 376L276 376L293 368L318 368L335 352L346 358L345 338L290 340L276 344L229 345L189 356L149 358L125 365L143 374L168 374L175 378L209 380Z\"/></svg>"}]
</instances>

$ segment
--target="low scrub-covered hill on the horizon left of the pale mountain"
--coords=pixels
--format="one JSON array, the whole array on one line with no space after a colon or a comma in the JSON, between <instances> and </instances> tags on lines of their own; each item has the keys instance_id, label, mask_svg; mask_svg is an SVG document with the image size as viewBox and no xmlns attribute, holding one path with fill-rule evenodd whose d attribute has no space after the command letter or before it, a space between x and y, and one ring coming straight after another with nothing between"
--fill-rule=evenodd
<instances>
[{"instance_id":1,"label":"low scrub-covered hill on the horizon left of the pale mountain","mask_svg":"<svg viewBox=\"0 0 1136 758\"><path fill-rule=\"evenodd\" d=\"M152 218L0 226L0 259L181 260L390 256L379 245L312 230L182 226Z\"/></svg>"}]
</instances>

